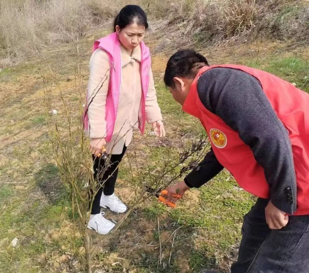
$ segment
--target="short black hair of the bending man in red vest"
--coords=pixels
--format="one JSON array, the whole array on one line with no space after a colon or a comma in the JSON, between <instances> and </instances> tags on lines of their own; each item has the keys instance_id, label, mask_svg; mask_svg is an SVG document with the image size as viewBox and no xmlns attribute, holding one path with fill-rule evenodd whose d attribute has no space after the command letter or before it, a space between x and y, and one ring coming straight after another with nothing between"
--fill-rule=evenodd
<instances>
[{"instance_id":1,"label":"short black hair of the bending man in red vest","mask_svg":"<svg viewBox=\"0 0 309 273\"><path fill-rule=\"evenodd\" d=\"M198 69L209 66L206 58L193 49L178 50L167 62L164 83L168 87L175 87L175 77L195 78Z\"/></svg>"}]
</instances>

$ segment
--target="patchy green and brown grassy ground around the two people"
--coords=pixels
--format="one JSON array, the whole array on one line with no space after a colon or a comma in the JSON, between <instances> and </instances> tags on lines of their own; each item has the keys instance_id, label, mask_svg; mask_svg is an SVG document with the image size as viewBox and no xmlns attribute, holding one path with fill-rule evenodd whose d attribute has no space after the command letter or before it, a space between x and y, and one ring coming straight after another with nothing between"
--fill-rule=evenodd
<instances>
[{"instance_id":1,"label":"patchy green and brown grassy ground around the two people","mask_svg":"<svg viewBox=\"0 0 309 273\"><path fill-rule=\"evenodd\" d=\"M80 45L84 86L94 38L88 36ZM52 48L0 72L0 272L84 272L81 263L75 260L80 261L81 257L70 261L61 258L72 252L74 241L77 246L82 246L82 242L72 234L73 215L52 160L49 114L44 106L44 88L48 87L53 90L53 105L59 115L63 115L59 90L73 113L78 109L75 52L74 44ZM307 48L258 41L205 49L204 53L211 63L251 65L309 91ZM180 106L162 83L167 58L163 53L153 56L167 137L156 140L136 134L129 150L136 149L146 156L154 168L164 157L166 147L174 146L188 132L196 136L203 132L196 119L181 114ZM116 192L130 203L133 182L128 164L125 158ZM108 246L100 248L94 266L103 272L176 273L199 272L202 268L229 272L237 255L243 215L253 203L254 198L241 191L226 171L208 186L188 193L175 210L163 207L152 198L131 214ZM107 217L117 220L118 216L108 212ZM159 235L163 259L158 266ZM10 243L15 237L19 239L18 247L12 248Z\"/></svg>"}]
</instances>

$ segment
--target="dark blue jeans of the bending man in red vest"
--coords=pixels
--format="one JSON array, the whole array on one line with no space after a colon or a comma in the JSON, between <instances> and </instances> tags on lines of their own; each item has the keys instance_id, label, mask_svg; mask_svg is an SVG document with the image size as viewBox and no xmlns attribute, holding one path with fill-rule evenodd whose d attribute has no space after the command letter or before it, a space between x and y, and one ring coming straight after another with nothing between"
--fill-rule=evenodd
<instances>
[{"instance_id":1,"label":"dark blue jeans of the bending man in red vest","mask_svg":"<svg viewBox=\"0 0 309 273\"><path fill-rule=\"evenodd\" d=\"M269 229L265 207L259 198L243 219L238 260L231 273L308 273L309 215L290 216L279 230Z\"/></svg>"}]
</instances>

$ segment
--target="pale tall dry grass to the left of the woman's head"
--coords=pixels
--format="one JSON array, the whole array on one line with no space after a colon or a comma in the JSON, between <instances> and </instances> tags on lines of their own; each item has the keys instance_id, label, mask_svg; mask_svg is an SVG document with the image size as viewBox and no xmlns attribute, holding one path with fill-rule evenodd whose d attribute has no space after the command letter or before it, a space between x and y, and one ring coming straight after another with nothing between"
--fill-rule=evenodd
<instances>
[{"instance_id":1,"label":"pale tall dry grass to the left of the woman's head","mask_svg":"<svg viewBox=\"0 0 309 273\"><path fill-rule=\"evenodd\" d=\"M76 41L100 25L97 0L10 1L0 5L2 65L22 59L47 45Z\"/></svg>"}]
</instances>

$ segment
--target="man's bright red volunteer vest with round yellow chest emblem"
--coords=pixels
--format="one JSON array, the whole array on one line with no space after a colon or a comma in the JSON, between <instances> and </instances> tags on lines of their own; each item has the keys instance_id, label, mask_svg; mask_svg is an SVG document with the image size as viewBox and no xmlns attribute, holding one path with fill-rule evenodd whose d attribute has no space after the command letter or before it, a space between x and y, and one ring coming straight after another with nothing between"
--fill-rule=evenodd
<instances>
[{"instance_id":1,"label":"man's bright red volunteer vest with round yellow chest emblem","mask_svg":"<svg viewBox=\"0 0 309 273\"><path fill-rule=\"evenodd\" d=\"M214 67L239 69L260 81L275 113L289 132L297 179L294 215L309 214L309 95L272 74L241 65L205 66L192 83L183 110L201 120L218 161L231 172L239 186L262 198L270 197L269 185L252 150L240 139L238 132L208 111L198 97L198 78Z\"/></svg>"}]
</instances>

